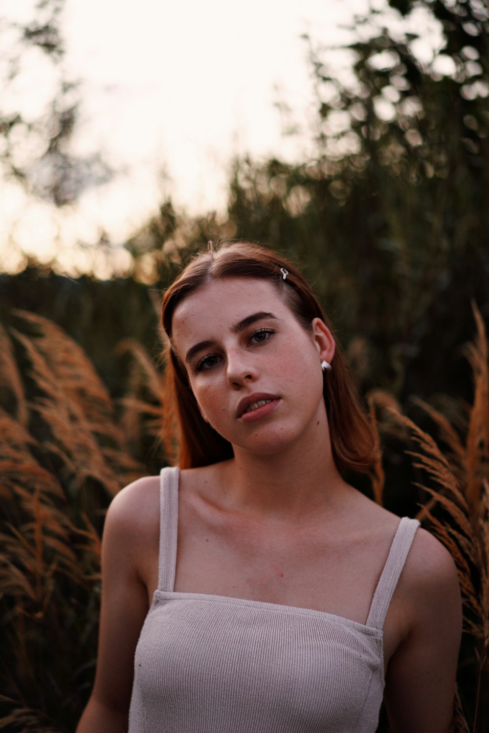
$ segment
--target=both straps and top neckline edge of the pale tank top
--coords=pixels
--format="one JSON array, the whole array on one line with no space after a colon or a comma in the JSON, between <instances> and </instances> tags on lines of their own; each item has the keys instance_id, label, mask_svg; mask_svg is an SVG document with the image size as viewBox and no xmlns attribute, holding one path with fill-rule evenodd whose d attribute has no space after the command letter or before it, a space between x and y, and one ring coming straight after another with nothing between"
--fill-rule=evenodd
<instances>
[{"instance_id":1,"label":"both straps and top neckline edge of the pale tank top","mask_svg":"<svg viewBox=\"0 0 489 733\"><path fill-rule=\"evenodd\" d=\"M391 542L389 554L380 572L377 586L364 624L347 616L331 614L328 611L317 611L315 608L284 605L270 601L223 596L211 593L174 591L175 570L177 564L177 528L178 528L178 483L180 469L178 466L161 469L160 488L160 550L158 561L158 588L153 594L153 603L158 600L196 600L227 605L249 606L284 614L299 614L324 618L330 622L350 626L367 636L383 636L383 622L389 603L397 586L402 567L411 548L419 521L402 517Z\"/></svg>"}]
</instances>

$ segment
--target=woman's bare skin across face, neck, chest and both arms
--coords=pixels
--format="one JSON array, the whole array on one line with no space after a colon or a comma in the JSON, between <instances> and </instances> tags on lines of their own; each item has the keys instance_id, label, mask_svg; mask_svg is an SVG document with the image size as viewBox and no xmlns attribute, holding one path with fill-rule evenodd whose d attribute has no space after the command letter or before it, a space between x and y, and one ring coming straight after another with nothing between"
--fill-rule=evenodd
<instances>
[{"instance_id":1,"label":"woman's bare skin across face, neck, chest and both arms","mask_svg":"<svg viewBox=\"0 0 489 733\"><path fill-rule=\"evenodd\" d=\"M174 590L312 608L364 624L399 517L334 463L321 361L334 338L298 322L266 279L210 280L180 301L172 346L234 457L180 472ZM111 504L95 687L77 733L127 726L133 656L158 585L159 477ZM354 589L354 592L352 592ZM393 733L448 733L461 604L449 553L419 529L383 627Z\"/></svg>"}]
</instances>

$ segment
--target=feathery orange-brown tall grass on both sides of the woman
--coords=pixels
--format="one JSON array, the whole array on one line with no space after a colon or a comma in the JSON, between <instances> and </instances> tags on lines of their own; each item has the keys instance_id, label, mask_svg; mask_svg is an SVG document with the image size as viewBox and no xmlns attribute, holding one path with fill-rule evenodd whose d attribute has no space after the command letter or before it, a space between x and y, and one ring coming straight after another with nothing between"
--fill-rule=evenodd
<instances>
[{"instance_id":1,"label":"feathery orange-brown tall grass on both sides of the woman","mask_svg":"<svg viewBox=\"0 0 489 733\"><path fill-rule=\"evenodd\" d=\"M370 395L378 436L405 441L419 484L418 517L452 553L464 602L458 730L489 729L488 346L466 353L471 405L418 405L430 433L385 392ZM163 463L161 377L136 342L120 342L125 397L114 402L87 356L54 323L12 312L0 326L0 729L72 731L95 668L103 515L122 485ZM436 436L433 438L431 433ZM380 441L380 437L378 438ZM372 471L375 500L384 475Z\"/></svg>"}]
</instances>

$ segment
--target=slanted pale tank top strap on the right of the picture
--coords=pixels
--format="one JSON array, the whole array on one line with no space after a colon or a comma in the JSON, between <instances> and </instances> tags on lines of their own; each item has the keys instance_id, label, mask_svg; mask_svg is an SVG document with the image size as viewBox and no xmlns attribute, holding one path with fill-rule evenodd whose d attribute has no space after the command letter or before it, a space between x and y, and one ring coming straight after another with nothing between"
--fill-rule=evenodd
<instances>
[{"instance_id":1,"label":"slanted pale tank top strap on the right of the picture","mask_svg":"<svg viewBox=\"0 0 489 733\"><path fill-rule=\"evenodd\" d=\"M365 622L366 626L382 629L392 594L396 589L397 581L399 580L418 527L419 521L417 519L409 519L409 517L402 517L400 523L397 525L396 534L394 534L386 564L383 566L375 593L373 594L369 615Z\"/></svg>"}]
</instances>

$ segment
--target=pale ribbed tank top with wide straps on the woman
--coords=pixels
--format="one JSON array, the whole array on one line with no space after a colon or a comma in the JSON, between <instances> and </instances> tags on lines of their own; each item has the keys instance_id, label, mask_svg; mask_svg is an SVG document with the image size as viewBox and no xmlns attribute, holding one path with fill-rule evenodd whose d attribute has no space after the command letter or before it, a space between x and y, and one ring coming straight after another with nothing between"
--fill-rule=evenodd
<instances>
[{"instance_id":1,"label":"pale ribbed tank top with wide straps on the woman","mask_svg":"<svg viewBox=\"0 0 489 733\"><path fill-rule=\"evenodd\" d=\"M161 471L158 589L136 647L128 733L375 733L383 621L419 522L400 520L364 625L176 593L178 478Z\"/></svg>"}]
</instances>

